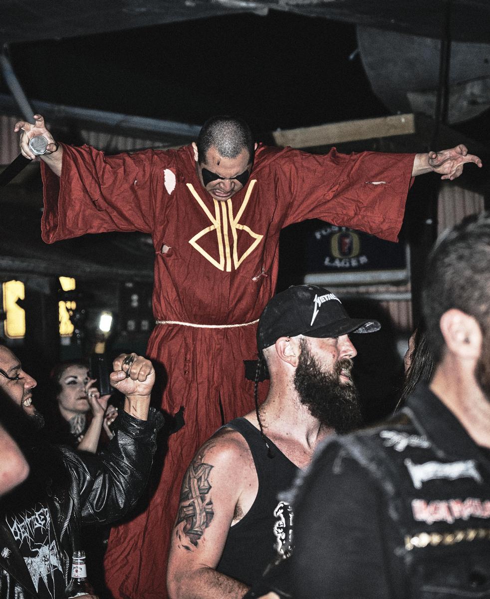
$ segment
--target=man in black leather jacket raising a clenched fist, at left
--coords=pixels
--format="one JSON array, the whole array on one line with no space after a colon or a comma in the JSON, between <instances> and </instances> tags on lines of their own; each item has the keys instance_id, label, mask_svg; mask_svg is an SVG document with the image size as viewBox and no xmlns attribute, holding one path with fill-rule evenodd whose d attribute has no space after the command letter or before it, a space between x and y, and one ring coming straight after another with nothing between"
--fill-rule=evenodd
<instances>
[{"instance_id":1,"label":"man in black leather jacket raising a clenched fist, at left","mask_svg":"<svg viewBox=\"0 0 490 599\"><path fill-rule=\"evenodd\" d=\"M141 356L121 355L110 379L125 407L107 449L95 455L51 446L32 404L36 382L0 339L2 424L31 471L0 503L1 599L63 597L73 553L90 551L80 546L80 525L121 518L146 485L159 426L149 412L155 371Z\"/></svg>"}]
</instances>

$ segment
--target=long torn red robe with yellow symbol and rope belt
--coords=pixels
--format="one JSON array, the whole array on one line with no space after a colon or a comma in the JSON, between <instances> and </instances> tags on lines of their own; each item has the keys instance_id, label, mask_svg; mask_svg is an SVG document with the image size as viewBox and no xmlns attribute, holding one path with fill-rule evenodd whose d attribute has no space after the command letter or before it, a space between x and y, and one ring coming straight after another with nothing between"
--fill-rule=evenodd
<instances>
[{"instance_id":1,"label":"long torn red robe with yellow symbol and rope belt","mask_svg":"<svg viewBox=\"0 0 490 599\"><path fill-rule=\"evenodd\" d=\"M165 572L182 476L223 422L253 409L244 359L256 359L255 321L274 294L281 229L319 218L397 240L413 154L312 155L259 146L249 181L219 202L203 189L191 146L104 156L63 146L60 179L43 166L47 243L85 233L142 231L155 247L157 320L147 355L164 364L162 408L184 406L149 507L111 532L107 583L116 598L167 596ZM170 249L168 249L170 248ZM165 251L167 250L167 251ZM131 348L129 348L131 349Z\"/></svg>"}]
</instances>

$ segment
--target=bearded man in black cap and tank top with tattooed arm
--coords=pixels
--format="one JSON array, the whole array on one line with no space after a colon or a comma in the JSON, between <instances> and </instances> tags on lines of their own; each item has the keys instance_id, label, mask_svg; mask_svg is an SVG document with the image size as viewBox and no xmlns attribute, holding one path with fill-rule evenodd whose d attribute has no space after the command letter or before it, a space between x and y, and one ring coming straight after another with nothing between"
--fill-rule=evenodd
<instances>
[{"instance_id":1,"label":"bearded man in black cap and tank top with tattooed arm","mask_svg":"<svg viewBox=\"0 0 490 599\"><path fill-rule=\"evenodd\" d=\"M316 286L268 302L257 331L267 399L220 428L187 469L168 563L173 599L242 597L277 555L289 556L292 510L278 494L320 440L359 425L348 334L379 328L349 318L334 294Z\"/></svg>"}]
</instances>

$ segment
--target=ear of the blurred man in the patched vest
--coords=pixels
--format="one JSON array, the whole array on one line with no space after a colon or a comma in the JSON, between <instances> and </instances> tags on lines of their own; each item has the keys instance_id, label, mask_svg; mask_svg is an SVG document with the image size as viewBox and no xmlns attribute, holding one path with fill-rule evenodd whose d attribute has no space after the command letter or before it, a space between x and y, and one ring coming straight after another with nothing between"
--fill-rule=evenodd
<instances>
[{"instance_id":1,"label":"ear of the blurred man in the patched vest","mask_svg":"<svg viewBox=\"0 0 490 599\"><path fill-rule=\"evenodd\" d=\"M449 352L462 359L480 357L482 329L473 316L451 308L441 316L439 325Z\"/></svg>"}]
</instances>

